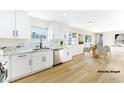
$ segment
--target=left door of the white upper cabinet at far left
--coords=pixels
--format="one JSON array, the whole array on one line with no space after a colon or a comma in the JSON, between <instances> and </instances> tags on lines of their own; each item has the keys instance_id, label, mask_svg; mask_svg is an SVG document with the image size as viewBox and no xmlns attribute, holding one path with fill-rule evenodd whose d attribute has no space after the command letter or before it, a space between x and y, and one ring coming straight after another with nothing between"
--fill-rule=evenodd
<instances>
[{"instance_id":1,"label":"left door of the white upper cabinet at far left","mask_svg":"<svg viewBox=\"0 0 124 93\"><path fill-rule=\"evenodd\" d=\"M15 13L14 11L0 11L0 38L14 38Z\"/></svg>"}]
</instances>

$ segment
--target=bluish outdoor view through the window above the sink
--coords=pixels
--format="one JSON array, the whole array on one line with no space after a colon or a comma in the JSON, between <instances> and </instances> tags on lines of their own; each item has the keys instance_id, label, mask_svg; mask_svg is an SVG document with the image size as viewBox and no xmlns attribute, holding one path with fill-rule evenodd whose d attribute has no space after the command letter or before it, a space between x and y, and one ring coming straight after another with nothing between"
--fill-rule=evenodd
<instances>
[{"instance_id":1,"label":"bluish outdoor view through the window above the sink","mask_svg":"<svg viewBox=\"0 0 124 93\"><path fill-rule=\"evenodd\" d=\"M41 39L48 39L48 28L32 26L32 43L40 43Z\"/></svg>"}]
</instances>

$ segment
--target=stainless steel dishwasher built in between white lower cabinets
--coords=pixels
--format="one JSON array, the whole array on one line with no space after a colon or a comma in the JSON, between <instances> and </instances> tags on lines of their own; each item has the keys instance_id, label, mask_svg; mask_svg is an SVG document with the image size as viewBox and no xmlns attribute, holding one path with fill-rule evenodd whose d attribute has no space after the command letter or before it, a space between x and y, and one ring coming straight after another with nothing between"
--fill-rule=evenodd
<instances>
[{"instance_id":1,"label":"stainless steel dishwasher built in between white lower cabinets","mask_svg":"<svg viewBox=\"0 0 124 93\"><path fill-rule=\"evenodd\" d=\"M53 65L61 64L60 51L61 49L53 49Z\"/></svg>"}]
</instances>

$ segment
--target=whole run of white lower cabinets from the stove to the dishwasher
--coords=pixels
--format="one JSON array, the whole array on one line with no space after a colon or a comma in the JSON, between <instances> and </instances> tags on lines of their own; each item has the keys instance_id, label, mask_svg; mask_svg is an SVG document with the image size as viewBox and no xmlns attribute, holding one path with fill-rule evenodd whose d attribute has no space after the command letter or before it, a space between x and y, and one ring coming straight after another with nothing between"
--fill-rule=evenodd
<instances>
[{"instance_id":1,"label":"whole run of white lower cabinets from the stove to the dishwasher","mask_svg":"<svg viewBox=\"0 0 124 93\"><path fill-rule=\"evenodd\" d=\"M53 51L41 51L12 55L10 81L53 66Z\"/></svg>"}]
</instances>

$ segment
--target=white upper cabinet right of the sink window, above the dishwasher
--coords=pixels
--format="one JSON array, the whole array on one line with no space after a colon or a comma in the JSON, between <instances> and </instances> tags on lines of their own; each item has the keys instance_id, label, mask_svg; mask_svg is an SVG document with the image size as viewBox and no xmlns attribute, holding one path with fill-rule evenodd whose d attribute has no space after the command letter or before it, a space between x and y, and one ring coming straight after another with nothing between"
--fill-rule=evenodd
<instances>
[{"instance_id":1,"label":"white upper cabinet right of the sink window, above the dishwasher","mask_svg":"<svg viewBox=\"0 0 124 93\"><path fill-rule=\"evenodd\" d=\"M51 21L49 24L50 39L66 39L68 35L68 26L66 24Z\"/></svg>"}]
</instances>

